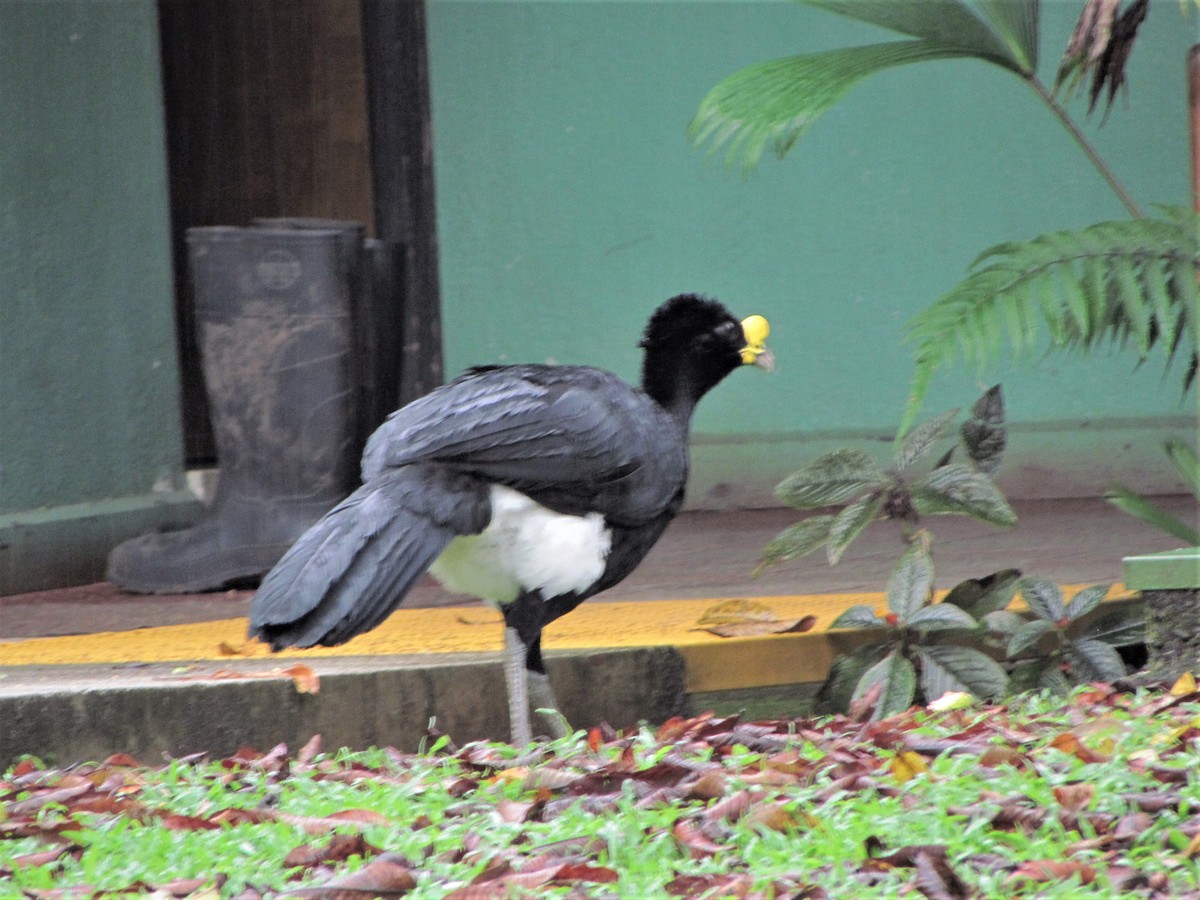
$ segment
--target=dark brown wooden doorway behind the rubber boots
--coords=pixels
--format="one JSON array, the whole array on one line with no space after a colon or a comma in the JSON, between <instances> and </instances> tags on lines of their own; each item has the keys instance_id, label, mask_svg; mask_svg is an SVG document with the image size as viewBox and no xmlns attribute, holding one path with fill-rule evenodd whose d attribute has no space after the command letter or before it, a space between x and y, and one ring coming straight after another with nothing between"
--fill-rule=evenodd
<instances>
[{"instance_id":1,"label":"dark brown wooden doorway behind the rubber boots","mask_svg":"<svg viewBox=\"0 0 1200 900\"><path fill-rule=\"evenodd\" d=\"M193 226L338 218L395 242L404 352L384 365L400 368L402 396L436 385L424 4L160 0L158 13L187 463L215 462L187 272Z\"/></svg>"}]
</instances>

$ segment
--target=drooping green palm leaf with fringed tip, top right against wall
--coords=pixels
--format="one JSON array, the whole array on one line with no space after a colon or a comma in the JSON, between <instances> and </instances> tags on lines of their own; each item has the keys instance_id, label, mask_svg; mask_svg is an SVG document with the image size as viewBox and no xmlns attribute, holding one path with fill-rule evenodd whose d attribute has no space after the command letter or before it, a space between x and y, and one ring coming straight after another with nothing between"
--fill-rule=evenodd
<instances>
[{"instance_id":1,"label":"drooping green palm leaf with fringed tip, top right against wall","mask_svg":"<svg viewBox=\"0 0 1200 900\"><path fill-rule=\"evenodd\" d=\"M748 66L701 101L689 136L726 150L726 162L752 168L769 145L782 157L805 131L856 84L875 72L971 55L928 41L895 41L788 56Z\"/></svg>"}]
</instances>

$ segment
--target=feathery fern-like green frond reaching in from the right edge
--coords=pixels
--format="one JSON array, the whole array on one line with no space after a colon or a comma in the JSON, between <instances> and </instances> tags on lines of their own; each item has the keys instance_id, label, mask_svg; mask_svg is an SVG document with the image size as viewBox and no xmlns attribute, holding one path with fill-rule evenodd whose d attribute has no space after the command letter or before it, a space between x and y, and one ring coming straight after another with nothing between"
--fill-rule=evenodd
<instances>
[{"instance_id":1,"label":"feathery fern-like green frond reaching in from the right edge","mask_svg":"<svg viewBox=\"0 0 1200 900\"><path fill-rule=\"evenodd\" d=\"M1014 356L1028 354L1043 341L1042 325L1055 350L1108 341L1145 360L1157 344L1170 366L1183 347L1187 389L1200 348L1200 220L1182 208L1163 214L984 251L974 271L907 325L917 372L900 434L935 370L958 359L994 365L1006 344Z\"/></svg>"}]
</instances>

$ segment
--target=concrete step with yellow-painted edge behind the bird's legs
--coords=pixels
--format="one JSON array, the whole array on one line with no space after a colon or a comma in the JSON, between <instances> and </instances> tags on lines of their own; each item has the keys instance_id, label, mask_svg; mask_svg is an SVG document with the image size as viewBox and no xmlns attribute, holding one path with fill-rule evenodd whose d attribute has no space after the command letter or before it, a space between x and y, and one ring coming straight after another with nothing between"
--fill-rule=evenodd
<instances>
[{"instance_id":1,"label":"concrete step with yellow-painted edge behind the bird's legs","mask_svg":"<svg viewBox=\"0 0 1200 900\"><path fill-rule=\"evenodd\" d=\"M1129 598L1118 587L1105 604ZM750 598L816 624L727 638L697 624L722 600L590 602L550 625L547 668L568 720L626 727L756 704L800 714L836 655L863 640L829 623L854 604L886 608L878 593ZM280 654L245 634L246 620L230 618L0 643L0 766L20 754L230 754L313 733L326 746L416 750L431 720L460 743L508 736L493 611L400 610L342 647Z\"/></svg>"}]
</instances>

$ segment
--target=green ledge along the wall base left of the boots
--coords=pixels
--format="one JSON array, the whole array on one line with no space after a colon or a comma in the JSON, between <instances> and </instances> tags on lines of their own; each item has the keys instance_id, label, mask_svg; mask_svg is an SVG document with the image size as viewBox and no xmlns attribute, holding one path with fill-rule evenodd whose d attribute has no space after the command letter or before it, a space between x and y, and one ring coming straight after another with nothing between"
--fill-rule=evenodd
<instances>
[{"instance_id":1,"label":"green ledge along the wall base left of the boots","mask_svg":"<svg viewBox=\"0 0 1200 900\"><path fill-rule=\"evenodd\" d=\"M0 515L0 595L100 581L126 538L188 526L202 509L170 491Z\"/></svg>"}]
</instances>

